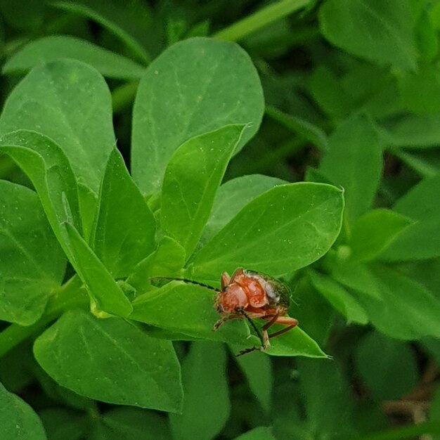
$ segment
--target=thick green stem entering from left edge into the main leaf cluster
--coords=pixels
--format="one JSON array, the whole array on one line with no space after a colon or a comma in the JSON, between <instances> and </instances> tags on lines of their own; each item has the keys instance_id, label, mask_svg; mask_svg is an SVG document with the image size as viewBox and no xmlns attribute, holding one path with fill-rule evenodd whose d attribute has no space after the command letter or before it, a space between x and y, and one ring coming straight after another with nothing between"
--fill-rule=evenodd
<instances>
[{"instance_id":1,"label":"thick green stem entering from left edge into the main leaf cluster","mask_svg":"<svg viewBox=\"0 0 440 440\"><path fill-rule=\"evenodd\" d=\"M77 276L70 278L52 297L43 316L32 325L11 324L0 332L0 357L8 353L28 337L39 332L60 316L64 311L89 304L89 297L82 290L82 282Z\"/></svg>"}]
</instances>

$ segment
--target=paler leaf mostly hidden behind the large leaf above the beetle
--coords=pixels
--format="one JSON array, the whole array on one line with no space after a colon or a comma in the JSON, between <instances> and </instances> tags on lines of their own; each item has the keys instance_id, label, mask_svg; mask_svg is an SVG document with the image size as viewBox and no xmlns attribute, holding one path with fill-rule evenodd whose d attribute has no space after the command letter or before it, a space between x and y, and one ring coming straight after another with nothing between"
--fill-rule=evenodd
<instances>
[{"instance_id":1,"label":"paler leaf mostly hidden behind the large leaf above the beetle","mask_svg":"<svg viewBox=\"0 0 440 440\"><path fill-rule=\"evenodd\" d=\"M240 212L240 209L258 195L283 183L287 182L275 177L251 174L237 177L221 185L214 198L212 212L203 230L201 241L207 242L211 239Z\"/></svg>"}]
</instances>

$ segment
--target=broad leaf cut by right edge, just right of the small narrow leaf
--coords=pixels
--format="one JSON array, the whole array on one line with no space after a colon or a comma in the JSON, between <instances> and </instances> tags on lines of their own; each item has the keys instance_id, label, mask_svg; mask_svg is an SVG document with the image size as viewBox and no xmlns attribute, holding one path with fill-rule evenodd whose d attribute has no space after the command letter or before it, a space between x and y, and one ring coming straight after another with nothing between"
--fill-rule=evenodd
<instances>
[{"instance_id":1,"label":"broad leaf cut by right edge, just right of the small narrow leaf","mask_svg":"<svg viewBox=\"0 0 440 440\"><path fill-rule=\"evenodd\" d=\"M432 292L389 268L376 266L373 275L381 298L358 299L377 330L395 339L440 337L440 300Z\"/></svg>"}]
</instances>

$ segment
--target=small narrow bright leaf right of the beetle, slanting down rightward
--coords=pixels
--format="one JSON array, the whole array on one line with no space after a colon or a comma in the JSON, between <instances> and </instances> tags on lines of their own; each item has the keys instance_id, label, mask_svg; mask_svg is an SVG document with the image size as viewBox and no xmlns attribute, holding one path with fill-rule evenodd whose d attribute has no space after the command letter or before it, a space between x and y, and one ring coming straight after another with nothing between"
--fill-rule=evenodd
<instances>
[{"instance_id":1,"label":"small narrow bright leaf right of the beetle, slanting down rightward","mask_svg":"<svg viewBox=\"0 0 440 440\"><path fill-rule=\"evenodd\" d=\"M309 276L313 287L347 318L347 323L368 323L368 316L361 304L342 285L316 271L310 271Z\"/></svg>"}]
</instances>

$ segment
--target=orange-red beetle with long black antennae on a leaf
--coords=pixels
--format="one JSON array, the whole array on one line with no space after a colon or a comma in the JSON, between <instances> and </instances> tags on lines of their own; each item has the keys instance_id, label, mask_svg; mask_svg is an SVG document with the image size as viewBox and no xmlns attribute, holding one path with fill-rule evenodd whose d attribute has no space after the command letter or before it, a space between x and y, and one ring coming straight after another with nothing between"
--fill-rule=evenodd
<instances>
[{"instance_id":1,"label":"orange-red beetle with long black antennae on a leaf","mask_svg":"<svg viewBox=\"0 0 440 440\"><path fill-rule=\"evenodd\" d=\"M176 278L157 277L153 279L175 280ZM193 280L181 279L181 281L202 285L216 292L214 306L221 318L214 324L214 331L219 330L221 325L232 319L247 319L255 332L257 332L261 346L240 351L237 356L256 350L264 351L268 349L271 346L270 338L283 335L283 333L292 330L292 328L298 325L298 321L295 318L287 316L287 308L290 304L289 288L279 280L276 280L276 278L272 278L264 273L250 271L241 267L231 277L228 276L228 273L224 272L221 275L221 290ZM254 318L268 321L261 328L261 332L252 321ZM286 328L269 335L268 329L276 323L286 325Z\"/></svg>"}]
</instances>

